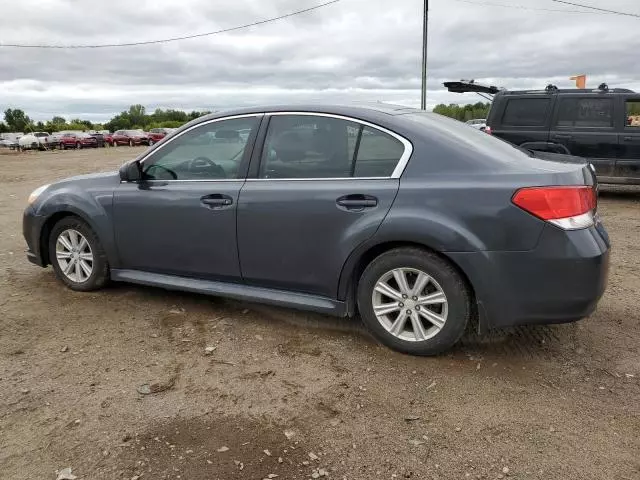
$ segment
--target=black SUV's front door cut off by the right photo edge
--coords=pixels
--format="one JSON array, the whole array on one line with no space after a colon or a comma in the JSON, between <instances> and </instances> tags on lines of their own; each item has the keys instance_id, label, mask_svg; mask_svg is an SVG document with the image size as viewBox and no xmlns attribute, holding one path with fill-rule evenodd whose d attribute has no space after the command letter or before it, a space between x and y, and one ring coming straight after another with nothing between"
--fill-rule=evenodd
<instances>
[{"instance_id":1,"label":"black SUV's front door cut off by the right photo edge","mask_svg":"<svg viewBox=\"0 0 640 480\"><path fill-rule=\"evenodd\" d=\"M640 183L640 95L621 97L624 118L619 135L619 156L614 171L615 177Z\"/></svg>"}]
</instances>

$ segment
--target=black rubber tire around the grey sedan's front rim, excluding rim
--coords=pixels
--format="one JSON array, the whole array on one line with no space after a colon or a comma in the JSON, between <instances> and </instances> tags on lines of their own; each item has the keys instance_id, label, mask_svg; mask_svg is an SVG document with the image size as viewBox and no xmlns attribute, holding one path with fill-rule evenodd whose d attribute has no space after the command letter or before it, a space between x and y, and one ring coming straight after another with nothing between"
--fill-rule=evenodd
<instances>
[{"instance_id":1,"label":"black rubber tire around the grey sedan's front rim, excluding rim","mask_svg":"<svg viewBox=\"0 0 640 480\"><path fill-rule=\"evenodd\" d=\"M91 253L93 254L93 268L91 275L82 283L75 282L67 277L62 271L62 267L56 257L56 243L61 233L73 229L82 234L87 239ZM56 273L56 277L71 290L79 292L89 292L104 287L109 282L109 262L107 255L100 244L96 233L78 217L65 217L55 224L49 236L49 260Z\"/></svg>"}]
</instances>

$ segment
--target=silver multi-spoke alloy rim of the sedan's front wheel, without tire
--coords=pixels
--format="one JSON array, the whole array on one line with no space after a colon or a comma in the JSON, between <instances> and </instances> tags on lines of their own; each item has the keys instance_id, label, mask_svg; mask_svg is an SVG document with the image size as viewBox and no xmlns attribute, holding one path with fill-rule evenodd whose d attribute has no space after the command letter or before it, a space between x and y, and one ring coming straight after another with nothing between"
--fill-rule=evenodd
<instances>
[{"instance_id":1,"label":"silver multi-spoke alloy rim of the sedan's front wheel, without tire","mask_svg":"<svg viewBox=\"0 0 640 480\"><path fill-rule=\"evenodd\" d=\"M84 283L93 273L93 252L87 239L74 229L63 231L56 240L56 260L72 282Z\"/></svg>"}]
</instances>

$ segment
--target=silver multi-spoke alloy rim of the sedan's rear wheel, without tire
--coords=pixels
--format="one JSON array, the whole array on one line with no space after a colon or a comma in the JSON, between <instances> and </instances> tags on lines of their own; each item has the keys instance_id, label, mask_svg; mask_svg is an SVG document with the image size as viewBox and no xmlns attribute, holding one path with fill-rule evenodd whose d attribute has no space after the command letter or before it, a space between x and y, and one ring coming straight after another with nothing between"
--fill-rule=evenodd
<instances>
[{"instance_id":1,"label":"silver multi-spoke alloy rim of the sedan's rear wheel, without tire","mask_svg":"<svg viewBox=\"0 0 640 480\"><path fill-rule=\"evenodd\" d=\"M448 302L442 287L415 268L396 268L382 275L371 301L380 324L404 341L433 338L447 321Z\"/></svg>"}]
</instances>

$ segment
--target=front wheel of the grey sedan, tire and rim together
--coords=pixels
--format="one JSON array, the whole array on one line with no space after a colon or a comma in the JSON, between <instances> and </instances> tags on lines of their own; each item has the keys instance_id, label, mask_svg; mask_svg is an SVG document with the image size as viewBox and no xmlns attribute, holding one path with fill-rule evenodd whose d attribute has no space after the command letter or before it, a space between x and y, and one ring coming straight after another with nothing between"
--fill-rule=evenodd
<instances>
[{"instance_id":1,"label":"front wheel of the grey sedan, tire and rim together","mask_svg":"<svg viewBox=\"0 0 640 480\"><path fill-rule=\"evenodd\" d=\"M58 279L72 290L97 290L109 280L109 264L98 236L77 217L63 218L53 227L49 257Z\"/></svg>"}]
</instances>

